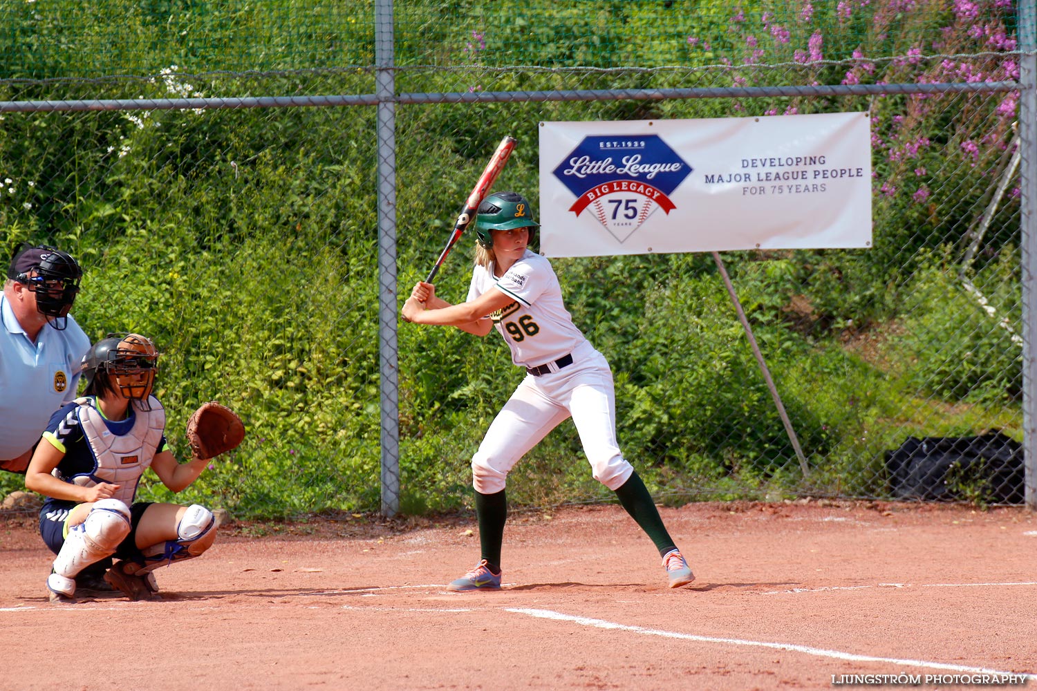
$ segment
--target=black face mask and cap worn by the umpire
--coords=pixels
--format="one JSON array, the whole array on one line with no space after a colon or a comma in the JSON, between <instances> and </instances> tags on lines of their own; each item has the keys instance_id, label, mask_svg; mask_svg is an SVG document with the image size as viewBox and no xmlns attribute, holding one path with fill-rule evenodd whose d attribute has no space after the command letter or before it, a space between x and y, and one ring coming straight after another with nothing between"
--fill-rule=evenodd
<instances>
[{"instance_id":1,"label":"black face mask and cap worn by the umpire","mask_svg":"<svg viewBox=\"0 0 1037 691\"><path fill-rule=\"evenodd\" d=\"M25 246L11 259L7 278L36 293L36 310L51 317L48 321L54 328L64 330L83 278L71 254L49 244Z\"/></svg>"}]
</instances>

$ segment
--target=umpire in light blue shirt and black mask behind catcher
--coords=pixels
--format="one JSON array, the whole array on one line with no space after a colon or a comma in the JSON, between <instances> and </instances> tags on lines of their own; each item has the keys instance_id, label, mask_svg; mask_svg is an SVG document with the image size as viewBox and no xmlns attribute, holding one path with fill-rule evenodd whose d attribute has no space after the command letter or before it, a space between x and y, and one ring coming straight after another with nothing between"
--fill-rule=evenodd
<instances>
[{"instance_id":1,"label":"umpire in light blue shirt and black mask behind catcher","mask_svg":"<svg viewBox=\"0 0 1037 691\"><path fill-rule=\"evenodd\" d=\"M90 340L68 315L83 271L66 252L23 244L0 296L0 469L25 473L51 413L76 398Z\"/></svg>"}]
</instances>

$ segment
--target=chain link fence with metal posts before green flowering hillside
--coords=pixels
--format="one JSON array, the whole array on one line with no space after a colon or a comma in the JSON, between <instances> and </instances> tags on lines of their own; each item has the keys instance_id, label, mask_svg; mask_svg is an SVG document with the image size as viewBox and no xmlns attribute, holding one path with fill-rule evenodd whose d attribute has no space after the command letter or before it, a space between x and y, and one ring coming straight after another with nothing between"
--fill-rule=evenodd
<instances>
[{"instance_id":1,"label":"chain link fence with metal posts before green flowering hillside","mask_svg":"<svg viewBox=\"0 0 1037 691\"><path fill-rule=\"evenodd\" d=\"M541 121L867 112L870 250L553 260L615 372L620 443L668 502L1021 502L1019 9L821 5L0 3L0 233L80 259L91 339L157 341L179 457L200 402L243 414L245 443L185 496L452 510L524 373L496 337L397 313L503 135L497 189L536 199ZM458 246L438 294L469 278ZM511 478L518 505L613 498L570 423Z\"/></svg>"}]
</instances>

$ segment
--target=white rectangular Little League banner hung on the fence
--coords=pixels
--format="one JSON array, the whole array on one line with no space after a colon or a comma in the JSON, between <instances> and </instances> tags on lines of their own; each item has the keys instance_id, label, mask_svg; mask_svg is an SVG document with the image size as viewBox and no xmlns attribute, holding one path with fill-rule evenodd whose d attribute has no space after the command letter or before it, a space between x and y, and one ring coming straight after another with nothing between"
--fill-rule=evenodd
<instances>
[{"instance_id":1,"label":"white rectangular Little League banner hung on the fence","mask_svg":"<svg viewBox=\"0 0 1037 691\"><path fill-rule=\"evenodd\" d=\"M867 113L540 123L548 257L871 247Z\"/></svg>"}]
</instances>

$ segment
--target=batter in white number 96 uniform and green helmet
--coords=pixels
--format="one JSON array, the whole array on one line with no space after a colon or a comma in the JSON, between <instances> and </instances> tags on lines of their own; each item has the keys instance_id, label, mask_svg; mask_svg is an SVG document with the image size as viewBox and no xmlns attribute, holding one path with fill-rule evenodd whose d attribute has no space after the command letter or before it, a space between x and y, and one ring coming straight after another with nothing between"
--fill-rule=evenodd
<instances>
[{"instance_id":1,"label":"batter in white number 96 uniform and green helmet","mask_svg":"<svg viewBox=\"0 0 1037 691\"><path fill-rule=\"evenodd\" d=\"M505 479L526 452L570 415L594 479L616 493L651 538L670 587L686 585L695 576L616 441L609 364L572 323L551 263L528 249L538 227L521 195L491 195L476 217L476 259L468 300L450 305L436 295L433 285L419 282L402 309L403 318L418 324L456 326L476 336L496 327L511 348L511 361L528 373L472 459L482 556L450 583L450 589L500 588L508 514Z\"/></svg>"}]
</instances>

